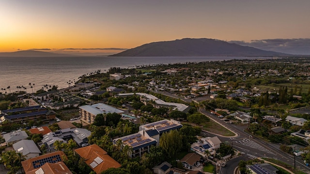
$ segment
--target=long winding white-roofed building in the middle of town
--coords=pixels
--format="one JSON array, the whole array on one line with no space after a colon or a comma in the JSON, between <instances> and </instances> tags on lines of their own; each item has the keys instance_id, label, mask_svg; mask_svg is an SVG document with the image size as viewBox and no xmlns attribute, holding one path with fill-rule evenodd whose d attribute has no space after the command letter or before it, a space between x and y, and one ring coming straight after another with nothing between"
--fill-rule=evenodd
<instances>
[{"instance_id":1,"label":"long winding white-roofed building in the middle of town","mask_svg":"<svg viewBox=\"0 0 310 174\"><path fill-rule=\"evenodd\" d=\"M173 110L178 110L178 111L182 111L182 112L186 112L189 107L185 104L181 104L181 103L174 103L174 102L164 102L160 99L158 99L157 97L155 97L154 95L151 94L146 94L146 93L120 93L120 94L116 94L115 97L127 97L127 96L132 96L132 95L139 95L140 96L140 101L143 102L145 105L146 104L153 104L153 106L155 108L159 108L159 107L172 107ZM155 102L152 103L152 101Z\"/></svg>"}]
</instances>

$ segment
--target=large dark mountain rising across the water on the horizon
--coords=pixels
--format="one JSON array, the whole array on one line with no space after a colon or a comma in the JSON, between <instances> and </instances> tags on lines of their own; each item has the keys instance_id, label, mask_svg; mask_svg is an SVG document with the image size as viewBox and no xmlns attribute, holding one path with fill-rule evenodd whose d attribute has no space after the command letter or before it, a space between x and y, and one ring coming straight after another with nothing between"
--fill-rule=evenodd
<instances>
[{"instance_id":1,"label":"large dark mountain rising across the water on the horizon","mask_svg":"<svg viewBox=\"0 0 310 174\"><path fill-rule=\"evenodd\" d=\"M265 51L250 46L241 46L216 39L181 39L147 43L128 49L113 57L194 57L194 56L287 56L289 54Z\"/></svg>"}]
</instances>

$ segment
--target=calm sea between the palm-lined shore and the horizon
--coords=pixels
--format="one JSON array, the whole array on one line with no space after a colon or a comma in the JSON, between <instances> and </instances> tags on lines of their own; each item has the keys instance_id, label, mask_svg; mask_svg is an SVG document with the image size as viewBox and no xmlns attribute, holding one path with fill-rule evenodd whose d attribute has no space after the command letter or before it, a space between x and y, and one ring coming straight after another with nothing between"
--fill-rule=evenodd
<instances>
[{"instance_id":1,"label":"calm sea between the palm-lined shore and the horizon","mask_svg":"<svg viewBox=\"0 0 310 174\"><path fill-rule=\"evenodd\" d=\"M36 90L44 85L68 87L69 81L110 67L131 68L136 65L154 65L184 62L220 61L230 59L255 59L245 57L0 57L0 88L24 86L31 92L29 83ZM33 90L34 90L33 88ZM6 89L9 92L8 89ZM3 92L0 90L0 92Z\"/></svg>"}]
</instances>

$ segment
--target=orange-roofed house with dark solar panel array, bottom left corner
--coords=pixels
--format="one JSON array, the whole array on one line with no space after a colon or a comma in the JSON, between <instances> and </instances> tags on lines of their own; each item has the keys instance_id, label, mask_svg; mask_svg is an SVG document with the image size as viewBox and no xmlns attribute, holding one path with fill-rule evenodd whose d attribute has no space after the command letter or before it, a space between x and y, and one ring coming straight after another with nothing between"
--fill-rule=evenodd
<instances>
[{"instance_id":1,"label":"orange-roofed house with dark solar panel array, bottom left corner","mask_svg":"<svg viewBox=\"0 0 310 174\"><path fill-rule=\"evenodd\" d=\"M62 151L52 152L21 161L25 174L72 174L63 163L66 155Z\"/></svg>"}]
</instances>

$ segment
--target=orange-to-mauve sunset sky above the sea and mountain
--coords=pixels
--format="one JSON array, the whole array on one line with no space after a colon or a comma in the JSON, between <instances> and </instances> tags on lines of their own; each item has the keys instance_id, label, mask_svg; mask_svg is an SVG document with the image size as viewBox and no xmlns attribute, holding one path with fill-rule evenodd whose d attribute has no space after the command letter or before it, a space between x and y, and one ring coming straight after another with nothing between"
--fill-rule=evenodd
<instances>
[{"instance_id":1,"label":"orange-to-mauve sunset sky above the sea and mountain","mask_svg":"<svg viewBox=\"0 0 310 174\"><path fill-rule=\"evenodd\" d=\"M309 7L310 0L0 0L0 52L108 54L182 38L307 39Z\"/></svg>"}]
</instances>

